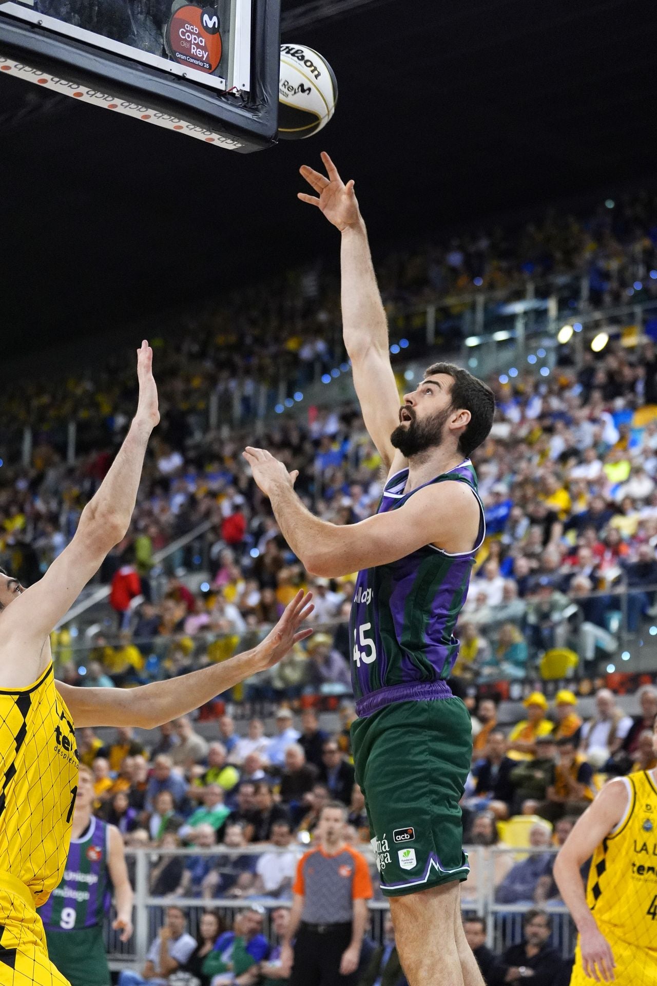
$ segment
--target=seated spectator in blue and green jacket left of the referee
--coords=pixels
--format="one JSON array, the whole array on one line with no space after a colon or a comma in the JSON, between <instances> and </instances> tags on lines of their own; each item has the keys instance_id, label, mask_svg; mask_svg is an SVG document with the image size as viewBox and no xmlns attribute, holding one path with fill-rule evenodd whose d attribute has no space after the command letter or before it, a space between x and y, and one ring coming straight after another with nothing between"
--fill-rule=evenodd
<instances>
[{"instance_id":1,"label":"seated spectator in blue and green jacket left of the referee","mask_svg":"<svg viewBox=\"0 0 657 986\"><path fill-rule=\"evenodd\" d=\"M264 915L258 904L251 904L239 911L232 931L220 935L204 963L206 975L213 977L213 986L231 986L232 983L246 986L254 981L246 973L269 954L269 943L262 934Z\"/></svg>"}]
</instances>

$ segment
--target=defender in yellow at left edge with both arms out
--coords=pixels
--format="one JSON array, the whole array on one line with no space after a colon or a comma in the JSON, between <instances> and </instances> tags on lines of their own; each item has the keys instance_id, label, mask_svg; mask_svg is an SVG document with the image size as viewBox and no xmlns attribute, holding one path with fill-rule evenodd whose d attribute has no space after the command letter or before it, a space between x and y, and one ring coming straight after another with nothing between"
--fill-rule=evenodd
<instances>
[{"instance_id":1,"label":"defender in yellow at left edge with both arms out","mask_svg":"<svg viewBox=\"0 0 657 986\"><path fill-rule=\"evenodd\" d=\"M128 434L71 543L24 589L0 574L0 986L63 986L48 958L36 907L62 878L78 792L74 722L152 729L270 668L310 634L312 606L298 593L252 651L140 688L75 688L54 680L50 631L125 537L151 432L160 420L153 351L137 355L139 400Z\"/></svg>"}]
</instances>

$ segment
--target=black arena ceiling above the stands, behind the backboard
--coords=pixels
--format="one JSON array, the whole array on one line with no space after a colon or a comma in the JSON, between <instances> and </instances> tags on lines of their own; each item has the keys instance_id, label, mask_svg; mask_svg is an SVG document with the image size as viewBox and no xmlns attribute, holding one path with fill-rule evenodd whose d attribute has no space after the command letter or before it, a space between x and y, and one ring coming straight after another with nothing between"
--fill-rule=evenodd
<instances>
[{"instance_id":1,"label":"black arena ceiling above the stands, behind the backboard","mask_svg":"<svg viewBox=\"0 0 657 986\"><path fill-rule=\"evenodd\" d=\"M335 255L295 197L324 148L357 179L375 245L653 183L654 5L283 8L284 39L332 63L339 105L322 135L249 156L0 78L5 359Z\"/></svg>"}]
</instances>

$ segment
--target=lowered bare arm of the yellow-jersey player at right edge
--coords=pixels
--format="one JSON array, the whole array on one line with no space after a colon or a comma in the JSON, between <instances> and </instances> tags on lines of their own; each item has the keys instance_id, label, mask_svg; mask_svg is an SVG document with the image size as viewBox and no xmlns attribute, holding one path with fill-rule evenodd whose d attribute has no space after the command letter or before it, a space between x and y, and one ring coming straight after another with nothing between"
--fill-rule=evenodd
<instances>
[{"instance_id":1,"label":"lowered bare arm of the yellow-jersey player at right edge","mask_svg":"<svg viewBox=\"0 0 657 986\"><path fill-rule=\"evenodd\" d=\"M586 902L579 871L596 846L621 821L627 804L624 780L617 778L606 784L559 849L554 869L561 898L579 932L584 972L591 979L605 982L613 978L614 955Z\"/></svg>"}]
</instances>

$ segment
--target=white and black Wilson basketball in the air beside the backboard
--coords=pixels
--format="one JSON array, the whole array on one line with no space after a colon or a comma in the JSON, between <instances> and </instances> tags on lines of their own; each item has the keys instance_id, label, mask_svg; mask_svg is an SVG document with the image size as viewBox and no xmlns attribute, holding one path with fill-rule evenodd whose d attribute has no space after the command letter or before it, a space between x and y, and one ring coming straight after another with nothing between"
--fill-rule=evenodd
<instances>
[{"instance_id":1,"label":"white and black Wilson basketball in the air beside the backboard","mask_svg":"<svg viewBox=\"0 0 657 986\"><path fill-rule=\"evenodd\" d=\"M335 73L325 58L301 44L281 45L279 136L309 137L326 126L338 102Z\"/></svg>"}]
</instances>

